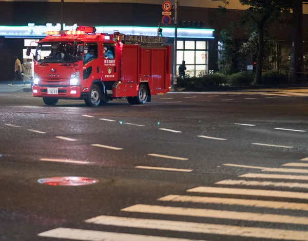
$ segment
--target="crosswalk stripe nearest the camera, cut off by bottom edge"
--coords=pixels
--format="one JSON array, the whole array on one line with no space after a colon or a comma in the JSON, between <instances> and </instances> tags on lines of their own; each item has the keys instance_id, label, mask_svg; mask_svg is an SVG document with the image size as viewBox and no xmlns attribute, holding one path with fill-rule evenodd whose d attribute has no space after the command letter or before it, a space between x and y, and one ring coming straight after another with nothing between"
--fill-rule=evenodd
<instances>
[{"instance_id":1,"label":"crosswalk stripe nearest the camera, cut off by bottom edge","mask_svg":"<svg viewBox=\"0 0 308 241\"><path fill-rule=\"evenodd\" d=\"M52 238L62 238L62 239L67 238L67 239L84 240L84 241L127 241L127 240L196 241L183 238L158 237L158 236L147 236L147 235L128 234L128 233L112 233L112 232L84 230L84 229L69 229L69 228L56 228L43 233L39 233L37 235L41 237L52 237Z\"/></svg>"}]
</instances>

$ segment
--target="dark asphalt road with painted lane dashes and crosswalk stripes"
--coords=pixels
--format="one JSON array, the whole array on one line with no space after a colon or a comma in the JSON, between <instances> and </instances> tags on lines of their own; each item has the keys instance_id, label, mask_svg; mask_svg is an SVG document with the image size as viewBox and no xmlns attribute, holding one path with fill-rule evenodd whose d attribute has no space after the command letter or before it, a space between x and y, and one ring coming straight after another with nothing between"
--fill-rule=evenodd
<instances>
[{"instance_id":1,"label":"dark asphalt road with painted lane dashes and crosswalk stripes","mask_svg":"<svg viewBox=\"0 0 308 241\"><path fill-rule=\"evenodd\" d=\"M0 240L308 240L307 114L308 89L97 108L1 92ZM37 182L59 176L99 182Z\"/></svg>"}]
</instances>

